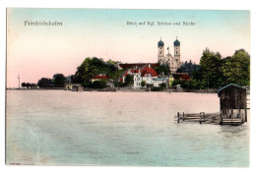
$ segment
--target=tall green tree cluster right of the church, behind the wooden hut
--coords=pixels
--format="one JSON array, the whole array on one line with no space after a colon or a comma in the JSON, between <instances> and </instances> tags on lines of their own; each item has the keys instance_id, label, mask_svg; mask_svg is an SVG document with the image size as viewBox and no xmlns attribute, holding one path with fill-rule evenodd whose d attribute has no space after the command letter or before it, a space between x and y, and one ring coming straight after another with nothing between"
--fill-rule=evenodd
<instances>
[{"instance_id":1,"label":"tall green tree cluster right of the church, behind the wooden hut","mask_svg":"<svg viewBox=\"0 0 256 172\"><path fill-rule=\"evenodd\" d=\"M187 68L188 66L191 68ZM191 65L190 62L182 65L178 71L184 72L186 69L189 69L192 79L174 81L172 86L198 89L220 88L228 84L250 85L250 55L244 49L236 50L232 56L223 58L221 53L206 48L198 66Z\"/></svg>"}]
</instances>

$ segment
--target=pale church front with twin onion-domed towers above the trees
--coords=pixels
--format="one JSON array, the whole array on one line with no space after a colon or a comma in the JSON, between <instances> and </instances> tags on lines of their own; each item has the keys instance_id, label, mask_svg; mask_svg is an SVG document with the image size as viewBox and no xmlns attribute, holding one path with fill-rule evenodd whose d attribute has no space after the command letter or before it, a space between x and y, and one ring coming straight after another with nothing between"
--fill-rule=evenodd
<instances>
[{"instance_id":1,"label":"pale church front with twin onion-domed towers above the trees","mask_svg":"<svg viewBox=\"0 0 256 172\"><path fill-rule=\"evenodd\" d=\"M168 53L164 56L164 43L160 38L158 43L159 47L159 63L160 65L169 65L171 73L176 73L177 69L180 67L180 42L176 38L173 42L174 45L174 57L169 53L169 47L167 47Z\"/></svg>"}]
</instances>

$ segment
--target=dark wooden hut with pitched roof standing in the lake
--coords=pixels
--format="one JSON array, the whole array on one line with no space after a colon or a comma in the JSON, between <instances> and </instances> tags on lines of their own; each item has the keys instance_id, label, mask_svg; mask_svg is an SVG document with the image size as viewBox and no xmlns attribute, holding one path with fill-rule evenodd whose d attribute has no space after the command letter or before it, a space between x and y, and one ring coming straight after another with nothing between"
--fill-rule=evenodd
<instances>
[{"instance_id":1,"label":"dark wooden hut with pitched roof standing in the lake","mask_svg":"<svg viewBox=\"0 0 256 172\"><path fill-rule=\"evenodd\" d=\"M234 84L218 90L221 105L221 124L243 124L247 122L246 88Z\"/></svg>"}]
</instances>

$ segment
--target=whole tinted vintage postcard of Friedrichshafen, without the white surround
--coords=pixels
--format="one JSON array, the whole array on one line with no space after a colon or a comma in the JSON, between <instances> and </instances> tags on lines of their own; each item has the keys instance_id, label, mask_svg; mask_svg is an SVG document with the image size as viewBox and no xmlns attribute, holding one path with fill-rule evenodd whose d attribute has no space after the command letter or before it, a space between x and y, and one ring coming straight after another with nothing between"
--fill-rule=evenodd
<instances>
[{"instance_id":1,"label":"whole tinted vintage postcard of Friedrichshafen, without the white surround","mask_svg":"<svg viewBox=\"0 0 256 172\"><path fill-rule=\"evenodd\" d=\"M248 167L250 11L7 9L6 164Z\"/></svg>"}]
</instances>

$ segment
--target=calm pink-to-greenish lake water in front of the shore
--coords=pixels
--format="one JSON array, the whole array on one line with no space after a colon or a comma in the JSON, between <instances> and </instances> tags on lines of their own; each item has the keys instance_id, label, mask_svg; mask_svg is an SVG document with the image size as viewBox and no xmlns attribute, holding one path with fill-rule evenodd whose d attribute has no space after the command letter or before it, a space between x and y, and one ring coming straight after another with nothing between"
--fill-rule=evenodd
<instances>
[{"instance_id":1,"label":"calm pink-to-greenish lake water in front of the shore","mask_svg":"<svg viewBox=\"0 0 256 172\"><path fill-rule=\"evenodd\" d=\"M217 94L7 90L7 164L248 166L249 124L176 124Z\"/></svg>"}]
</instances>

